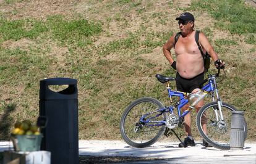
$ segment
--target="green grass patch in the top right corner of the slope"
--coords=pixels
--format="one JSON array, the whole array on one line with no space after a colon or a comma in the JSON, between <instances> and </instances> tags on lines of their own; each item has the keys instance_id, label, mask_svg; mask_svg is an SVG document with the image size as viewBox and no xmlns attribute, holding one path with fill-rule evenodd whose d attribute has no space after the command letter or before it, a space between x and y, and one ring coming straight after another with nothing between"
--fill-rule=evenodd
<instances>
[{"instance_id":1,"label":"green grass patch in the top right corner of the slope","mask_svg":"<svg viewBox=\"0 0 256 164\"><path fill-rule=\"evenodd\" d=\"M216 27L232 34L256 33L256 10L244 5L244 1L198 0L193 1L192 10L202 9L218 20Z\"/></svg>"}]
</instances>

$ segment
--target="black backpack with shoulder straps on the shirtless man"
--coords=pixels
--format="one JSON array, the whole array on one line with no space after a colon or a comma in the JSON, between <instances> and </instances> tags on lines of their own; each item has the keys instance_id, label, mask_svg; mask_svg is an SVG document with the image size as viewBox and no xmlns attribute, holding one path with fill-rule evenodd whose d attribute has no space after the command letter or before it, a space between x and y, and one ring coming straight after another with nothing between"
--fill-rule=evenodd
<instances>
[{"instance_id":1,"label":"black backpack with shoulder straps on the shirtless man","mask_svg":"<svg viewBox=\"0 0 256 164\"><path fill-rule=\"evenodd\" d=\"M195 31L195 42L197 43L198 49L200 50L201 55L203 57L203 65L205 67L205 72L208 72L208 69L210 68L210 57L211 56L208 54L208 52L203 54L202 47L200 46L199 41L198 41L199 40L199 33L200 33L200 31L198 31L198 30ZM179 32L175 35L173 48L175 48L175 44L177 43L177 40L179 39L179 36L181 36L181 32Z\"/></svg>"}]
</instances>

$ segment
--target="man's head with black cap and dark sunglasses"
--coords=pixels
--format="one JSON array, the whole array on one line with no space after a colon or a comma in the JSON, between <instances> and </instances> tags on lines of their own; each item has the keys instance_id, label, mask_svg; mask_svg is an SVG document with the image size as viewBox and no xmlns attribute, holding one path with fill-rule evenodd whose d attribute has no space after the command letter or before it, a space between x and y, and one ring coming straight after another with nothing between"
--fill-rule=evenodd
<instances>
[{"instance_id":1,"label":"man's head with black cap and dark sunglasses","mask_svg":"<svg viewBox=\"0 0 256 164\"><path fill-rule=\"evenodd\" d=\"M187 33L194 28L195 18L189 12L182 13L179 17L176 18L179 22L179 28L182 33Z\"/></svg>"}]
</instances>

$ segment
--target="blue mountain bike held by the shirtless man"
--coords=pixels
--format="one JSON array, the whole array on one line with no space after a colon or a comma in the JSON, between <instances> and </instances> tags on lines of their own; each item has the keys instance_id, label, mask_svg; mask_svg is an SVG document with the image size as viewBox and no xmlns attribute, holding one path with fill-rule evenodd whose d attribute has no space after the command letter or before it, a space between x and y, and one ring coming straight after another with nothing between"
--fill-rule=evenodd
<instances>
[{"instance_id":1,"label":"blue mountain bike held by the shirtless man","mask_svg":"<svg viewBox=\"0 0 256 164\"><path fill-rule=\"evenodd\" d=\"M191 94L173 91L170 88L169 82L174 81L175 78L156 74L158 81L166 84L171 105L164 107L159 100L152 97L142 97L129 104L126 110L124 110L120 122L121 135L124 141L132 147L143 148L151 146L163 134L168 136L169 133L174 133L179 141L181 141L174 128L177 126L181 128L185 115L194 109L194 105L197 102L210 95L212 102L203 105L198 110L196 118L197 129L200 136L211 146L221 150L230 149L229 128L231 126L231 111L237 109L232 105L222 102L220 99L216 83L216 78L219 75L220 68L218 73L208 75L208 78L203 80L200 91ZM174 102L172 99L174 96L179 97L179 100ZM181 108L189 102L190 107L181 113ZM177 109L177 115L174 114L174 109ZM207 133L203 131L205 123L207 125ZM244 133L246 138L247 123L245 120Z\"/></svg>"}]
</instances>

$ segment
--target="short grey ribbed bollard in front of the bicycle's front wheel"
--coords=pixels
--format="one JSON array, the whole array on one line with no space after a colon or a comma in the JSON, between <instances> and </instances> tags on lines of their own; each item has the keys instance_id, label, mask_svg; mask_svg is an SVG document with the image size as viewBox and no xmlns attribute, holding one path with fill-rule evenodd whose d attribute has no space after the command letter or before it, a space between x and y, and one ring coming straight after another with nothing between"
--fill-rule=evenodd
<instances>
[{"instance_id":1,"label":"short grey ribbed bollard in front of the bicycle's front wheel","mask_svg":"<svg viewBox=\"0 0 256 164\"><path fill-rule=\"evenodd\" d=\"M230 149L244 149L244 112L233 111L230 131Z\"/></svg>"}]
</instances>

